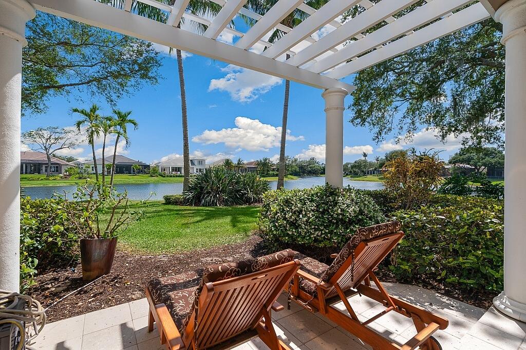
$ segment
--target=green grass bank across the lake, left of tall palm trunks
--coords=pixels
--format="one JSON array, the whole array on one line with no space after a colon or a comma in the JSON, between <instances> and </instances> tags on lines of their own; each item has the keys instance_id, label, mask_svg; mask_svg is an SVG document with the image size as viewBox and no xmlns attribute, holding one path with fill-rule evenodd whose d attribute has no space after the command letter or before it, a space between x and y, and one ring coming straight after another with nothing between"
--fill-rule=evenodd
<instances>
[{"instance_id":1,"label":"green grass bank across the lake, left of tall palm trunks","mask_svg":"<svg viewBox=\"0 0 526 350\"><path fill-rule=\"evenodd\" d=\"M95 181L95 175L89 176L90 180ZM63 179L60 176L51 176L46 178L46 175L20 175L21 186L67 186L75 184L83 184L85 179L69 178ZM109 182L109 176L107 177ZM116 174L114 179L115 185L127 185L127 184L148 184L148 183L165 183L165 182L183 182L183 177L152 177L145 174L139 175L124 175Z\"/></svg>"}]
</instances>

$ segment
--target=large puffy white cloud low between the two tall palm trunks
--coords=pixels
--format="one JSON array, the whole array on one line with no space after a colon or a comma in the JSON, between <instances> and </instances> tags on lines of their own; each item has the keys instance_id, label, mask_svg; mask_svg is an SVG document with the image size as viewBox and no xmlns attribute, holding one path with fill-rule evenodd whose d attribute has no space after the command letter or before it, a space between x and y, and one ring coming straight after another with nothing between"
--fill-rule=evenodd
<instances>
[{"instance_id":1,"label":"large puffy white cloud low between the two tall palm trunks","mask_svg":"<svg viewBox=\"0 0 526 350\"><path fill-rule=\"evenodd\" d=\"M204 144L224 143L231 148L239 147L247 151L268 151L279 146L281 126L261 123L258 119L238 116L234 121L237 128L205 130L194 136L192 141ZM288 141L305 140L303 136L294 136L287 130Z\"/></svg>"}]
</instances>

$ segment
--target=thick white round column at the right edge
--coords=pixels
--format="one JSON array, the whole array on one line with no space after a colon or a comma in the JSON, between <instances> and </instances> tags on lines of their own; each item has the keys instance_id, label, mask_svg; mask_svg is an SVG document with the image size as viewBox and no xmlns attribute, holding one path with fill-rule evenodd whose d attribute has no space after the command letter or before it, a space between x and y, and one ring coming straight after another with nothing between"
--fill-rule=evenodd
<instances>
[{"instance_id":1,"label":"thick white round column at the right edge","mask_svg":"<svg viewBox=\"0 0 526 350\"><path fill-rule=\"evenodd\" d=\"M506 46L504 291L493 303L526 321L526 0L511 0L495 13Z\"/></svg>"}]
</instances>

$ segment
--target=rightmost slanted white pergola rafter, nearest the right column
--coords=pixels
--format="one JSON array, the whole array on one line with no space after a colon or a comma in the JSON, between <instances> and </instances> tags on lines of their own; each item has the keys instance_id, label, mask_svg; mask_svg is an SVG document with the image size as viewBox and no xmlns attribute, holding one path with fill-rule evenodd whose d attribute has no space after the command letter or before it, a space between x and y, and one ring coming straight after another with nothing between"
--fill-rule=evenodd
<instances>
[{"instance_id":1,"label":"rightmost slanted white pergola rafter, nearest the right column","mask_svg":"<svg viewBox=\"0 0 526 350\"><path fill-rule=\"evenodd\" d=\"M381 49L363 55L356 60L345 63L327 73L327 77L341 79L362 69L374 66L377 63L396 57L418 46L429 43L443 36L449 35L462 28L469 27L489 18L488 11L477 3L447 18L443 18L427 27L415 31L413 34L400 38L383 46Z\"/></svg>"}]
</instances>

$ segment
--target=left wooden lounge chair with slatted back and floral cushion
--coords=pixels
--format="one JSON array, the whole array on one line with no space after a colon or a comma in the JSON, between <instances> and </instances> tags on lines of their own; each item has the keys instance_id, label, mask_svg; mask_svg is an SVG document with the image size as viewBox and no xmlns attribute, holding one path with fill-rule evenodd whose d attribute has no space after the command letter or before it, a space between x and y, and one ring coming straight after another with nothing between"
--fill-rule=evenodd
<instances>
[{"instance_id":1,"label":"left wooden lounge chair with slatted back and floral cushion","mask_svg":"<svg viewBox=\"0 0 526 350\"><path fill-rule=\"evenodd\" d=\"M227 349L259 336L272 350L289 350L271 322L276 300L299 269L295 252L207 267L148 283L148 331L154 322L168 350Z\"/></svg>"}]
</instances>

